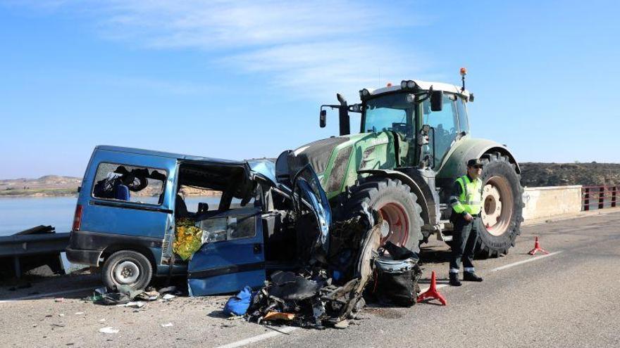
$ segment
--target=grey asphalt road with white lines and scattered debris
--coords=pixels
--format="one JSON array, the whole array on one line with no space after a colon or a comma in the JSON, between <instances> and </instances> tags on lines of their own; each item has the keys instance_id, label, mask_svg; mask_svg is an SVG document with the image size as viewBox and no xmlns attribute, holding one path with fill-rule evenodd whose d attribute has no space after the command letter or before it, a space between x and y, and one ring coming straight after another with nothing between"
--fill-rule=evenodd
<instances>
[{"instance_id":1,"label":"grey asphalt road with white lines and scattered debris","mask_svg":"<svg viewBox=\"0 0 620 348\"><path fill-rule=\"evenodd\" d=\"M345 330L280 327L280 333L228 320L221 315L226 297L178 297L142 309L85 302L89 290L32 298L94 288L93 276L44 279L13 292L0 286L0 346L620 347L619 226L617 210L526 226L509 255L475 262L483 283L440 288L446 307L371 306ZM534 236L550 256L526 254ZM447 252L439 242L423 248L426 281L435 270L446 283ZM108 326L119 332L99 333Z\"/></svg>"}]
</instances>

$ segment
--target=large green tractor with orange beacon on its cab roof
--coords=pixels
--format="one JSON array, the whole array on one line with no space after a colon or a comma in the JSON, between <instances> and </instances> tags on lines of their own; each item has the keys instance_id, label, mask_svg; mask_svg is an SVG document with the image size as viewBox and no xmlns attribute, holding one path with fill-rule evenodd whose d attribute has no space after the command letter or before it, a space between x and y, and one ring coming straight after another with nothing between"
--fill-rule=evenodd
<instances>
[{"instance_id":1,"label":"large green tractor with orange beacon on its cab roof","mask_svg":"<svg viewBox=\"0 0 620 348\"><path fill-rule=\"evenodd\" d=\"M311 164L336 216L377 210L390 227L388 240L419 252L431 234L452 240L452 209L447 203L466 161L483 163L483 210L476 250L483 257L506 254L521 226L523 188L519 164L506 146L473 138L466 104L473 94L463 85L404 80L398 86L359 91L361 103L322 105L337 109L340 136L314 141L282 153L278 179ZM361 113L359 134L351 134L349 113Z\"/></svg>"}]
</instances>

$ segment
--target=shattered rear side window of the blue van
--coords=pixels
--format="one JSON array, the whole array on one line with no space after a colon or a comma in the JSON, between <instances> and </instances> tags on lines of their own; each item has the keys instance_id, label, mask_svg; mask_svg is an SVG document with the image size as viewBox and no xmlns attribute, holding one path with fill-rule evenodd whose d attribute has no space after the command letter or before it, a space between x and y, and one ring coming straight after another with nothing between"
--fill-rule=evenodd
<instances>
[{"instance_id":1,"label":"shattered rear side window of the blue van","mask_svg":"<svg viewBox=\"0 0 620 348\"><path fill-rule=\"evenodd\" d=\"M161 205L166 171L148 167L99 163L92 197Z\"/></svg>"}]
</instances>

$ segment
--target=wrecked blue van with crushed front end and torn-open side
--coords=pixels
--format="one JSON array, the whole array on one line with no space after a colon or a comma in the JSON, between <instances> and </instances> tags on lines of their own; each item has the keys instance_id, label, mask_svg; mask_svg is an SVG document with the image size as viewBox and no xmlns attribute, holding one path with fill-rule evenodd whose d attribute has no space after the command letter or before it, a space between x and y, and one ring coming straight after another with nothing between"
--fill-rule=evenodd
<instances>
[{"instance_id":1,"label":"wrecked blue van with crushed front end and torn-open side","mask_svg":"<svg viewBox=\"0 0 620 348\"><path fill-rule=\"evenodd\" d=\"M201 202L187 204L188 195ZM180 219L203 231L202 246L188 261L173 252ZM211 295L259 287L270 269L326 252L330 222L309 165L278 182L269 160L97 146L66 254L75 264L100 266L110 289L187 275L191 295Z\"/></svg>"}]
</instances>

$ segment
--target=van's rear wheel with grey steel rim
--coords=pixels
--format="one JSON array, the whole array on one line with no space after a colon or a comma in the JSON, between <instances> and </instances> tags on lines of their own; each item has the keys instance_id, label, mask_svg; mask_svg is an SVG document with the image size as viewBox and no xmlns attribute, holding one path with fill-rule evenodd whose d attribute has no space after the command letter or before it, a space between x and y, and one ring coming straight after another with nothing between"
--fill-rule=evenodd
<instances>
[{"instance_id":1,"label":"van's rear wheel with grey steel rim","mask_svg":"<svg viewBox=\"0 0 620 348\"><path fill-rule=\"evenodd\" d=\"M151 282L151 262L140 252L121 250L113 253L101 269L101 281L110 290L128 285L132 290L144 289Z\"/></svg>"}]
</instances>

